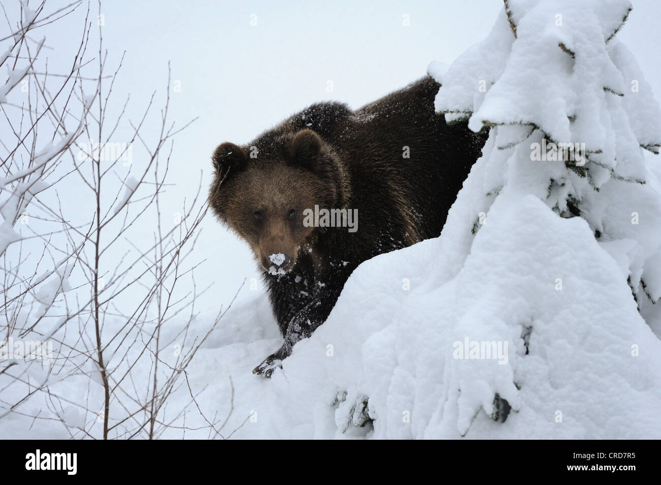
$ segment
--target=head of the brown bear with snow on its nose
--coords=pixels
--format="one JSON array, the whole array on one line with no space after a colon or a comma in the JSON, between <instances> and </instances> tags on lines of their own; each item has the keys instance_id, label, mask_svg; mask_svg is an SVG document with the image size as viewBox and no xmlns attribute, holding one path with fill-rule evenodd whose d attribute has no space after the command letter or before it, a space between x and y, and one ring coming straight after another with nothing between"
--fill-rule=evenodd
<instances>
[{"instance_id":1,"label":"head of the brown bear with snow on its nose","mask_svg":"<svg viewBox=\"0 0 661 485\"><path fill-rule=\"evenodd\" d=\"M342 208L348 200L340 157L312 130L267 133L243 147L225 142L212 163L212 210L268 274L289 272L323 231L304 224L306 209Z\"/></svg>"}]
</instances>

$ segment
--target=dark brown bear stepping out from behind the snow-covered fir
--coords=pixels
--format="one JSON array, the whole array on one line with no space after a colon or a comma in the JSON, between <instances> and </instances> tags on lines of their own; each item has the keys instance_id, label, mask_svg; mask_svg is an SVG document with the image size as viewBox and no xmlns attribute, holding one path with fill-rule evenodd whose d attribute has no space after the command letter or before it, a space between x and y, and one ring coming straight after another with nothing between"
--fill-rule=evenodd
<instances>
[{"instance_id":1,"label":"dark brown bear stepping out from behind the snow-covered fir","mask_svg":"<svg viewBox=\"0 0 661 485\"><path fill-rule=\"evenodd\" d=\"M486 130L446 124L439 87L424 77L356 111L313 104L215 149L210 206L253 249L284 336L254 373L282 367L360 263L440 235Z\"/></svg>"}]
</instances>

